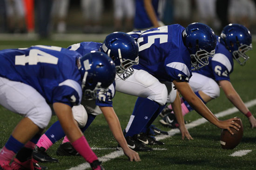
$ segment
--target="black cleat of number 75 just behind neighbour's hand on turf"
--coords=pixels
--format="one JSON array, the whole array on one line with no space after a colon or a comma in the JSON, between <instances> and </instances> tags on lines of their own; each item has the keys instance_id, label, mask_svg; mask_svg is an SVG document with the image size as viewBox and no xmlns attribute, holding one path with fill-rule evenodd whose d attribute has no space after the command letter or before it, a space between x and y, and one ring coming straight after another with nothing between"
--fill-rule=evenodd
<instances>
[{"instance_id":1,"label":"black cleat of number 75 just behind neighbour's hand on turf","mask_svg":"<svg viewBox=\"0 0 256 170\"><path fill-rule=\"evenodd\" d=\"M131 148L134 151L152 151L153 149L150 147L147 147L145 144L143 144L140 140L138 140L138 135L135 134L133 137L125 137L127 144L129 148ZM117 150L123 151L121 146L118 144Z\"/></svg>"}]
</instances>

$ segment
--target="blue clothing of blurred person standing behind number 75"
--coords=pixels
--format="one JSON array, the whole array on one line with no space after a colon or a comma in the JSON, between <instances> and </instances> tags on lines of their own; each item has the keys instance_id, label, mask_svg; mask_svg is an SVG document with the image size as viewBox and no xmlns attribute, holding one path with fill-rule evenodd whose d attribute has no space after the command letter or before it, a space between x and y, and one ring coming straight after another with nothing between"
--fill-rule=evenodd
<instances>
[{"instance_id":1,"label":"blue clothing of blurred person standing behind number 75","mask_svg":"<svg viewBox=\"0 0 256 170\"><path fill-rule=\"evenodd\" d=\"M144 29L152 27L153 24L148 18L148 14L146 12L146 9L144 7L144 0L136 0L136 8L135 8L135 18L134 18L134 27L137 29ZM154 11L156 13L157 19L159 20L159 14L158 14L158 2L159 0L151 0L152 6L154 8Z\"/></svg>"}]
</instances>

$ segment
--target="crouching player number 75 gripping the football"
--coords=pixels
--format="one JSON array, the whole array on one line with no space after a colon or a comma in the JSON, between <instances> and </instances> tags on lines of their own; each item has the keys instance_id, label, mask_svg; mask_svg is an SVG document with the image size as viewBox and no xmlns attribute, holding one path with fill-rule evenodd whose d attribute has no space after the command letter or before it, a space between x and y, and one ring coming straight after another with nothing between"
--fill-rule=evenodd
<instances>
[{"instance_id":1,"label":"crouching player number 75 gripping the football","mask_svg":"<svg viewBox=\"0 0 256 170\"><path fill-rule=\"evenodd\" d=\"M144 133L168 99L172 99L175 110L179 110L177 103L180 103L180 100L176 98L175 89L212 124L228 129L231 134L233 132L230 127L238 130L239 125L233 122L238 119L218 120L195 95L188 83L192 75L191 65L194 69L200 69L207 65L208 58L214 55L216 36L208 25L193 23L184 28L175 24L129 34L136 38L139 44L140 63L133 66L134 74L126 80L118 77L115 79L117 91L139 96L126 128L125 137L129 145L136 145L132 142L138 139L141 132L143 135L140 135L139 139L148 143L148 137ZM171 93L170 89L173 89ZM177 117L182 138L185 135L187 139L192 139L184 125L181 112Z\"/></svg>"}]
</instances>

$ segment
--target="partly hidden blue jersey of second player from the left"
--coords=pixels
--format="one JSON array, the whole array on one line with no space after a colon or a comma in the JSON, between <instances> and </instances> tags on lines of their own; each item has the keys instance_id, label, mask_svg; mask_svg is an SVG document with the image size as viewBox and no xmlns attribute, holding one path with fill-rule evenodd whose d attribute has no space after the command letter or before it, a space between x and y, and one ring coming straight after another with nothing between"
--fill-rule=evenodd
<instances>
[{"instance_id":1,"label":"partly hidden blue jersey of second player from the left","mask_svg":"<svg viewBox=\"0 0 256 170\"><path fill-rule=\"evenodd\" d=\"M70 45L67 49L69 50L75 50L79 52L82 56L85 54L95 50L99 50L102 43L96 43L96 42L81 42L78 44ZM108 87L108 92L105 94L99 94L98 98L96 99L96 105L101 107L113 107L112 99L115 96L115 82L113 82Z\"/></svg>"}]
</instances>

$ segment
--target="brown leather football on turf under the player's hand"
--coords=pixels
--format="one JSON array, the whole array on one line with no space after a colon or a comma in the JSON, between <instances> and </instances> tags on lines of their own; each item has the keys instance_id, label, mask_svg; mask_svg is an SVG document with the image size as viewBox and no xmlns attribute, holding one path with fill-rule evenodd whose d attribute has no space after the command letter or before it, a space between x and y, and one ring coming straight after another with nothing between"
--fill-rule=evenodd
<instances>
[{"instance_id":1,"label":"brown leather football on turf under the player's hand","mask_svg":"<svg viewBox=\"0 0 256 170\"><path fill-rule=\"evenodd\" d=\"M242 137L243 137L242 120L241 119L235 120L235 122L239 124L241 128L239 128L239 131L237 131L236 129L231 127L230 129L234 133L234 135L229 133L227 129L222 129L221 139L220 139L222 149L234 149L242 140Z\"/></svg>"}]
</instances>

